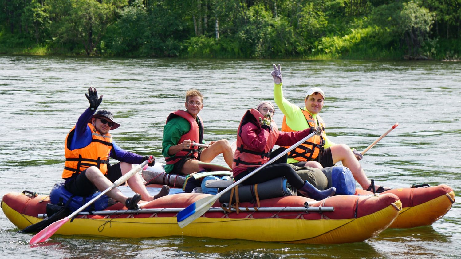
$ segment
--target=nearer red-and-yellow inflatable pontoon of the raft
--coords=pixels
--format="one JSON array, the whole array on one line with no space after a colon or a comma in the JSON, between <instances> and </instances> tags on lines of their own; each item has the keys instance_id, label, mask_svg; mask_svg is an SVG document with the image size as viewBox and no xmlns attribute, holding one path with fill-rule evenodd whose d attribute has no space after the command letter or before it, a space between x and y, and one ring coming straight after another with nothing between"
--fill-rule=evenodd
<instances>
[{"instance_id":1,"label":"nearer red-and-yellow inflatable pontoon of the raft","mask_svg":"<svg viewBox=\"0 0 461 259\"><path fill-rule=\"evenodd\" d=\"M126 188L126 187L125 187ZM150 189L150 188L149 188ZM202 217L181 229L176 215L208 194L178 193L127 211L116 203L106 210L78 215L56 234L125 238L196 236L266 242L333 244L361 242L389 227L401 209L394 194L333 196L322 201L285 196L260 201L260 207L242 202L239 212L219 202ZM48 196L8 193L1 207L19 229L35 224L46 213Z\"/></svg>"}]
</instances>

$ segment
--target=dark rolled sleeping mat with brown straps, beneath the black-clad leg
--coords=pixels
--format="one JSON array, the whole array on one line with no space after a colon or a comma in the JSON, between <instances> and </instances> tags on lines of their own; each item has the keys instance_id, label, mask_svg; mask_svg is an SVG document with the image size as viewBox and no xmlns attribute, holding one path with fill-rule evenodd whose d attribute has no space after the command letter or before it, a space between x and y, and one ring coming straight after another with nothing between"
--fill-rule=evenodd
<instances>
[{"instance_id":1,"label":"dark rolled sleeping mat with brown straps, beneath the black-clad leg","mask_svg":"<svg viewBox=\"0 0 461 259\"><path fill-rule=\"evenodd\" d=\"M256 187L255 187L256 186ZM223 189L224 190L224 189ZM219 189L221 191L221 189ZM287 179L284 177L274 178L272 180L252 185L238 185L238 199L239 202L255 201L256 191L260 200L283 197L283 196L296 196L296 189L291 187ZM219 202L227 203L231 198L231 192L225 192L220 198ZM231 203L236 202L236 194L232 196Z\"/></svg>"}]
</instances>

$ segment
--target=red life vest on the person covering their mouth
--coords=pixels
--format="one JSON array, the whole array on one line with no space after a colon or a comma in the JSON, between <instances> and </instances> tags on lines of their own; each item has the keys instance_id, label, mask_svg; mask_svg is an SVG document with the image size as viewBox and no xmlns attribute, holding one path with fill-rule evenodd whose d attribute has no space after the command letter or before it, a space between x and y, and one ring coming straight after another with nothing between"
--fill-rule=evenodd
<instances>
[{"instance_id":1,"label":"red life vest on the person covering their mouth","mask_svg":"<svg viewBox=\"0 0 461 259\"><path fill-rule=\"evenodd\" d=\"M243 115L237 130L237 149L234 153L234 160L232 163L233 170L236 168L259 167L269 161L272 148L278 138L278 128L274 121L271 122L271 132L269 133L267 144L263 151L254 150L247 146L243 143L242 137L240 136L242 134L242 126L247 123L253 123L258 128L261 128L259 123L260 117L262 118L264 115L260 114L257 109L250 109ZM234 177L235 176L234 174Z\"/></svg>"}]
</instances>

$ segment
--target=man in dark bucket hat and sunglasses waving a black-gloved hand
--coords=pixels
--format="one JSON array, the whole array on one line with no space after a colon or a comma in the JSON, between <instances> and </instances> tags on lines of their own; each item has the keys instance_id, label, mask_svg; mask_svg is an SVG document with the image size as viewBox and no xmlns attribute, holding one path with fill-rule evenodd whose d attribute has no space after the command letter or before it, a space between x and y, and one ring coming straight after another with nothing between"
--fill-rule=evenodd
<instances>
[{"instance_id":1,"label":"man in dark bucket hat and sunglasses waving a black-gloved hand","mask_svg":"<svg viewBox=\"0 0 461 259\"><path fill-rule=\"evenodd\" d=\"M62 178L65 188L76 196L89 196L95 191L106 190L113 182L128 173L133 164L141 164L149 156L137 155L118 147L112 140L110 130L120 127L115 122L114 114L106 109L96 109L102 101L95 88L89 88L85 94L89 100L89 108L78 118L77 124L67 134L65 141L65 164ZM120 163L111 165L109 157ZM150 158L149 165L154 164ZM170 188L164 185L160 193L151 196L142 182L142 177L135 174L127 180L128 185L136 193L133 197L124 196L120 190L113 188L107 196L124 204L128 209L136 209L138 202L152 201L168 195Z\"/></svg>"}]
</instances>

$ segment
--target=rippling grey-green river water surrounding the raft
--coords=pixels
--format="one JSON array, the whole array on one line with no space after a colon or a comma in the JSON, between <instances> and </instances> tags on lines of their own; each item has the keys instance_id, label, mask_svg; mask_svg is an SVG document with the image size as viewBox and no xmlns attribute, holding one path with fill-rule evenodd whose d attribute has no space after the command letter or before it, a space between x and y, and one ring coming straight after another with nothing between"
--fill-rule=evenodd
<instances>
[{"instance_id":1,"label":"rippling grey-green river water surrounding the raft","mask_svg":"<svg viewBox=\"0 0 461 259\"><path fill-rule=\"evenodd\" d=\"M276 62L290 102L303 105L313 86L325 91L321 115L335 143L363 150L400 123L361 161L369 178L395 188L448 184L460 195L461 63L32 56L0 56L0 195L47 194L61 180L64 139L88 107L89 86L104 95L100 109L111 109L122 124L112 131L117 144L163 162L162 127L171 111L184 107L187 89L205 96L205 140L232 142L245 110L273 100L270 73ZM278 110L279 127L282 117ZM222 156L215 161L224 164ZM431 226L388 229L341 245L56 235L30 247L33 235L19 233L0 212L0 251L6 258L461 258L456 199Z\"/></svg>"}]
</instances>

